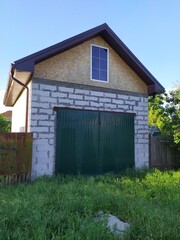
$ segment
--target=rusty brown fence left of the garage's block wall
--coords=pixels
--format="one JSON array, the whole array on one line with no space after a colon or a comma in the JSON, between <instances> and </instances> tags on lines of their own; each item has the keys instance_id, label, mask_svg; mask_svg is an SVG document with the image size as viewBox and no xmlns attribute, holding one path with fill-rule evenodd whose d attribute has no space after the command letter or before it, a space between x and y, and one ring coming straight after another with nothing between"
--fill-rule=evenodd
<instances>
[{"instance_id":1,"label":"rusty brown fence left of the garage's block wall","mask_svg":"<svg viewBox=\"0 0 180 240\"><path fill-rule=\"evenodd\" d=\"M31 133L0 133L0 185L30 180Z\"/></svg>"}]
</instances>

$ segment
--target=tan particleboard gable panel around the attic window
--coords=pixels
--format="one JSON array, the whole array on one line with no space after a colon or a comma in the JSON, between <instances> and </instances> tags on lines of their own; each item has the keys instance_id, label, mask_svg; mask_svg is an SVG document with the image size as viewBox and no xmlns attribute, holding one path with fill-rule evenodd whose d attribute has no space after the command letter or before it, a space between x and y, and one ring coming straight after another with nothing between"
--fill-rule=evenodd
<instances>
[{"instance_id":1,"label":"tan particleboard gable panel around the attic window","mask_svg":"<svg viewBox=\"0 0 180 240\"><path fill-rule=\"evenodd\" d=\"M109 83L90 80L91 44L109 48ZM146 84L101 37L36 64L34 77L147 93Z\"/></svg>"}]
</instances>

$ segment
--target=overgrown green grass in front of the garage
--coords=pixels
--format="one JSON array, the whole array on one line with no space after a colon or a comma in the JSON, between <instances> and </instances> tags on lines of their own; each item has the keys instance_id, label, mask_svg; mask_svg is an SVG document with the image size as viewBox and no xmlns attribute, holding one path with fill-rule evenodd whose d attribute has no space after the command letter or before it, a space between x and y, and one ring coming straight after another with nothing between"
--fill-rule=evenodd
<instances>
[{"instance_id":1,"label":"overgrown green grass in front of the garage","mask_svg":"<svg viewBox=\"0 0 180 240\"><path fill-rule=\"evenodd\" d=\"M95 215L130 223L124 239L180 239L180 171L40 178L0 188L0 239L111 240Z\"/></svg>"}]
</instances>

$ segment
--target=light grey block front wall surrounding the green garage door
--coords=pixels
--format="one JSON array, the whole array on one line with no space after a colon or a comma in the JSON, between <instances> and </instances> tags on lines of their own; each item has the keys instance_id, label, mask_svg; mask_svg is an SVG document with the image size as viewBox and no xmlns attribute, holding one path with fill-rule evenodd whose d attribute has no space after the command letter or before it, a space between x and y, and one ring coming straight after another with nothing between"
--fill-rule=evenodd
<instances>
[{"instance_id":1,"label":"light grey block front wall surrounding the green garage door","mask_svg":"<svg viewBox=\"0 0 180 240\"><path fill-rule=\"evenodd\" d=\"M32 80L32 177L55 170L56 107L135 113L135 166L148 166L148 99L144 94L69 85L52 80Z\"/></svg>"}]
</instances>

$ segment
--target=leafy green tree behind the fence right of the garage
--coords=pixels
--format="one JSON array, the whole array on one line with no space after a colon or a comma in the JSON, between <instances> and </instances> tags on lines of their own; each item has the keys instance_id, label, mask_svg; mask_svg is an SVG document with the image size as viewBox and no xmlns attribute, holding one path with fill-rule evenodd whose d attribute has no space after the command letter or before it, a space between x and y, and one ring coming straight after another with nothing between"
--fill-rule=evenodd
<instances>
[{"instance_id":1,"label":"leafy green tree behind the fence right of the garage","mask_svg":"<svg viewBox=\"0 0 180 240\"><path fill-rule=\"evenodd\" d=\"M164 140L180 149L180 86L149 99L148 123L156 125Z\"/></svg>"}]
</instances>

